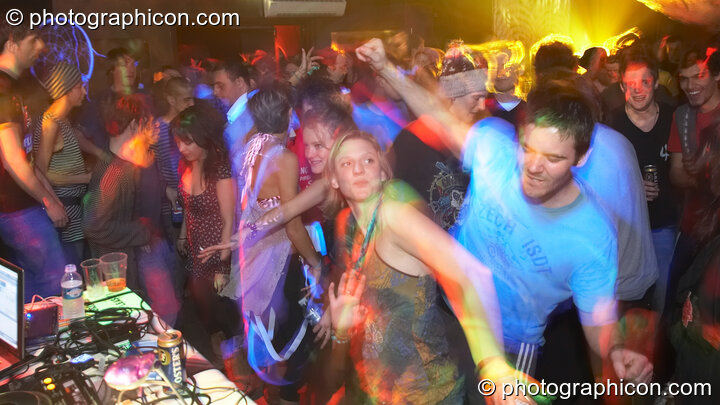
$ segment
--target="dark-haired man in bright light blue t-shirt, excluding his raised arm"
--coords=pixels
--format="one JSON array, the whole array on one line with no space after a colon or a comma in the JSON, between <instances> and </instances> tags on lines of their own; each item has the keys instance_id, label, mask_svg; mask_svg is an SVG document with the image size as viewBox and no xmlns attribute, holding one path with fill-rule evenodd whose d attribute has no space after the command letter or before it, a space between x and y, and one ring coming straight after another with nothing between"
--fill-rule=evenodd
<instances>
[{"instance_id":1,"label":"dark-haired man in bright light blue t-shirt, excluding his raised arm","mask_svg":"<svg viewBox=\"0 0 720 405\"><path fill-rule=\"evenodd\" d=\"M534 373L548 316L572 297L590 347L610 356L620 377L648 380L647 358L614 333L615 228L571 170L593 126L582 95L558 82L528 97L519 142L504 121L476 124L463 151L471 184L455 235L493 271L505 351L518 370Z\"/></svg>"}]
</instances>

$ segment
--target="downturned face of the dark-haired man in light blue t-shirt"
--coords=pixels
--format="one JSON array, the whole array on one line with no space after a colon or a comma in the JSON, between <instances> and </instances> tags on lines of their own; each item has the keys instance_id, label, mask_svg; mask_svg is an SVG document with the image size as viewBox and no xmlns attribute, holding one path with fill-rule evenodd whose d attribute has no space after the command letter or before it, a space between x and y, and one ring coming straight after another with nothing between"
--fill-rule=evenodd
<instances>
[{"instance_id":1,"label":"downturned face of the dark-haired man in light blue t-shirt","mask_svg":"<svg viewBox=\"0 0 720 405\"><path fill-rule=\"evenodd\" d=\"M563 191L572 186L570 171L578 161L575 141L562 139L555 127L525 126L520 139L522 190L531 201L548 207L566 205Z\"/></svg>"}]
</instances>

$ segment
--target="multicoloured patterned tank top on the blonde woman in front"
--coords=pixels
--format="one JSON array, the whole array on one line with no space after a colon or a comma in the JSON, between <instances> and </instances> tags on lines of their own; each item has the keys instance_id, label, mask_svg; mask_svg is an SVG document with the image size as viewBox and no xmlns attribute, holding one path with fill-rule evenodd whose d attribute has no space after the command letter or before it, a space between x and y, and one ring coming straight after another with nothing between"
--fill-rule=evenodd
<instances>
[{"instance_id":1,"label":"multicoloured patterned tank top on the blonde woman in front","mask_svg":"<svg viewBox=\"0 0 720 405\"><path fill-rule=\"evenodd\" d=\"M364 234L348 208L338 216L338 229L344 239L336 245L339 263L350 268L349 253ZM350 342L350 403L461 404L464 381L449 357L435 280L393 269L377 255L374 241L359 271L367 277L361 304L368 316Z\"/></svg>"}]
</instances>

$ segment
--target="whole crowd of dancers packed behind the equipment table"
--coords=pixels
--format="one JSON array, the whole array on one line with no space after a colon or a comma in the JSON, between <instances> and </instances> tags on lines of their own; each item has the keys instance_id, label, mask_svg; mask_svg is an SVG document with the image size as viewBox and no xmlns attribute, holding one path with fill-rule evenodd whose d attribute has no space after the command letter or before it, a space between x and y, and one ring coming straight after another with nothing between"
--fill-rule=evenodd
<instances>
[{"instance_id":1,"label":"whole crowd of dancers packed behind the equipment table","mask_svg":"<svg viewBox=\"0 0 720 405\"><path fill-rule=\"evenodd\" d=\"M398 33L145 87L116 48L89 98L73 63L38 60L42 32L0 42L0 237L28 301L124 252L128 287L268 403L589 400L480 379L720 388L712 40L578 58L550 39L523 61L518 42Z\"/></svg>"}]
</instances>

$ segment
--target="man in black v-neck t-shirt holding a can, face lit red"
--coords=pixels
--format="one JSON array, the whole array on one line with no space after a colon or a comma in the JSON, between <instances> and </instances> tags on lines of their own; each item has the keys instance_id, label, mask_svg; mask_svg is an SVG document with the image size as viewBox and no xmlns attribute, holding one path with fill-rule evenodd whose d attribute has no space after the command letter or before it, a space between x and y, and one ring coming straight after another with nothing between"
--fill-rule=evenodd
<instances>
[{"instance_id":1,"label":"man in black v-neck t-shirt holding a can, face lit red","mask_svg":"<svg viewBox=\"0 0 720 405\"><path fill-rule=\"evenodd\" d=\"M633 46L623 51L620 74L625 106L610 114L609 123L633 144L638 167L652 166L657 176L657 183L645 179L644 187L659 270L652 308L662 311L675 245L676 218L667 152L674 108L656 100L658 63L643 48Z\"/></svg>"}]
</instances>

